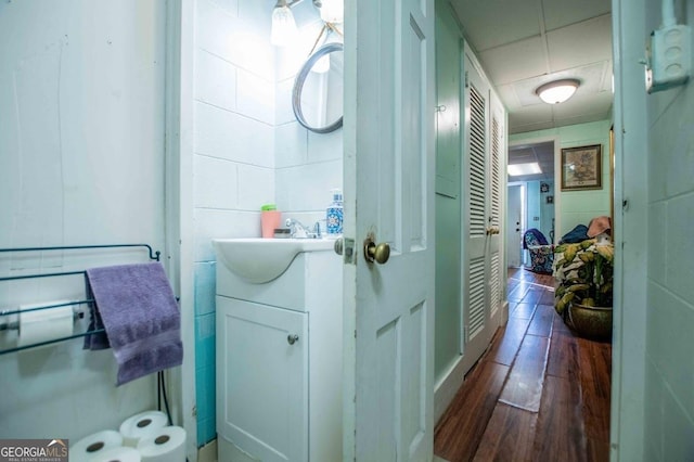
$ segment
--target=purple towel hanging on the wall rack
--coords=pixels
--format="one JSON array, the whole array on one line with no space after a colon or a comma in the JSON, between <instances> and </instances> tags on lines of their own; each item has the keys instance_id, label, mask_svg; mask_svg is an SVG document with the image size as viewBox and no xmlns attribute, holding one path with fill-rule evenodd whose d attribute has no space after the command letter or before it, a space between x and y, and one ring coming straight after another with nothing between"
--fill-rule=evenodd
<instances>
[{"instance_id":1,"label":"purple towel hanging on the wall rack","mask_svg":"<svg viewBox=\"0 0 694 462\"><path fill-rule=\"evenodd\" d=\"M183 362L181 317L159 262L87 270L94 298L90 329L103 321L107 341L91 335L85 348L108 344L118 362L117 385Z\"/></svg>"}]
</instances>

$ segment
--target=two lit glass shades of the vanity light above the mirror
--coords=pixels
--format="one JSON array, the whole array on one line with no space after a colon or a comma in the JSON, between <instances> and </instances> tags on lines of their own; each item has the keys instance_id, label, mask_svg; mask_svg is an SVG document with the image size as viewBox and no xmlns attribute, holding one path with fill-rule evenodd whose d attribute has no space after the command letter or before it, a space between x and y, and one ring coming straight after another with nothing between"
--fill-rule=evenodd
<instances>
[{"instance_id":1,"label":"two lit glass shades of the vanity light above the mirror","mask_svg":"<svg viewBox=\"0 0 694 462\"><path fill-rule=\"evenodd\" d=\"M291 8L303 0L278 0L272 9L272 30L270 33L270 42L275 47L288 46L296 35L296 22ZM326 24L342 23L344 21L345 2L344 0L312 0L313 7L318 9Z\"/></svg>"}]
</instances>

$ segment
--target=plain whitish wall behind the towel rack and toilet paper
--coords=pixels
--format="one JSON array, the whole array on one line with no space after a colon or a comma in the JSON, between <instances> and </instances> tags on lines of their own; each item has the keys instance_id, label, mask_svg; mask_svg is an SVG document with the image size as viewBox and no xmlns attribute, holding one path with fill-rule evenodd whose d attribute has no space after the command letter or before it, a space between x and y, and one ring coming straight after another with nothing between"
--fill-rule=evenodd
<instances>
[{"instance_id":1,"label":"plain whitish wall behind the towel rack and toilet paper","mask_svg":"<svg viewBox=\"0 0 694 462\"><path fill-rule=\"evenodd\" d=\"M164 1L0 3L0 247L145 242L165 251L165 18ZM22 262L4 254L0 273L147 259L115 254ZM2 309L83 296L81 277L0 282ZM14 336L0 332L0 348ZM0 438L75 442L155 406L153 378L116 387L112 350L81 345L0 356Z\"/></svg>"}]
</instances>

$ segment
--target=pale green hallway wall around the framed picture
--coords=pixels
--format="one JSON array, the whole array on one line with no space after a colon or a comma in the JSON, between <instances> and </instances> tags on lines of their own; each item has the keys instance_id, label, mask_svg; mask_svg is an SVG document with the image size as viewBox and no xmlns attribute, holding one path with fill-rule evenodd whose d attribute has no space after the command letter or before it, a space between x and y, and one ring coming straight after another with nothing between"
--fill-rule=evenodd
<instances>
[{"instance_id":1,"label":"pale green hallway wall around the framed picture","mask_svg":"<svg viewBox=\"0 0 694 462\"><path fill-rule=\"evenodd\" d=\"M536 140L557 138L561 147L575 147L590 144L602 145L602 189L586 191L562 191L556 188L560 196L561 211L557 216L556 240L562 238L576 224L588 224L593 217L609 215L609 120L599 120L588 124L569 125L547 130L528 131L511 134L509 144L528 143ZM556 166L561 168L561 166Z\"/></svg>"}]
</instances>

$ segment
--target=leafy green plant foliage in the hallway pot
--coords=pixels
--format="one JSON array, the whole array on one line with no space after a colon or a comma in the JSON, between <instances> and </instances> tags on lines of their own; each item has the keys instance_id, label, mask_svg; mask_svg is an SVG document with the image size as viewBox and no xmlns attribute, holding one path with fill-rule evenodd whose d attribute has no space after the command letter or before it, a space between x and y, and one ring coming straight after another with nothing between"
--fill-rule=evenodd
<instances>
[{"instance_id":1,"label":"leafy green plant foliage in the hallway pot","mask_svg":"<svg viewBox=\"0 0 694 462\"><path fill-rule=\"evenodd\" d=\"M562 244L554 251L554 277L560 285L554 293L556 311L566 317L569 304L612 307L615 248L596 245L595 240Z\"/></svg>"}]
</instances>

